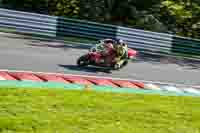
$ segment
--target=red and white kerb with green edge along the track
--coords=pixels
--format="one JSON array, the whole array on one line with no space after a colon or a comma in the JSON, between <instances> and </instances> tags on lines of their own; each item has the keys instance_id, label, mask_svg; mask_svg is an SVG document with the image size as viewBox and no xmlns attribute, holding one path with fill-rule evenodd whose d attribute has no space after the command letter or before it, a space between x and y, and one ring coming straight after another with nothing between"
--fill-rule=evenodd
<instances>
[{"instance_id":1,"label":"red and white kerb with green edge along the track","mask_svg":"<svg viewBox=\"0 0 200 133\"><path fill-rule=\"evenodd\" d=\"M148 92L153 93L159 92L174 93L177 95L188 95L188 96L200 96L199 86L184 86L184 85L168 85L162 83L152 83L148 81L137 81L137 80L126 80L126 79L113 79L96 76L85 76L85 75L71 75L71 74L59 74L59 73L42 73L42 72L29 72L29 71L10 71L0 70L0 86L5 81L14 82L26 82L31 83L62 83L63 85L82 85L96 86L97 90L104 88L114 88L117 91L120 90L135 90L134 92ZM10 82L9 82L10 83ZM8 85L8 84L7 84ZM93 87L92 87L93 88ZM154 91L154 92L153 92Z\"/></svg>"}]
</instances>

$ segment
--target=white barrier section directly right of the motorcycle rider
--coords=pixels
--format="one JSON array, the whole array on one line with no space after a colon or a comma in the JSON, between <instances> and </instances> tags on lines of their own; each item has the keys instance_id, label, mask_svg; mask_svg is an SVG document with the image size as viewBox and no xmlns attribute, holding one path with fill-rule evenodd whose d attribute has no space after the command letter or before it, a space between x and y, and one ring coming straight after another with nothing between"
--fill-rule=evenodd
<instances>
[{"instance_id":1,"label":"white barrier section directly right of the motorcycle rider","mask_svg":"<svg viewBox=\"0 0 200 133\"><path fill-rule=\"evenodd\" d=\"M150 52L171 51L172 35L136 30L118 26L117 37L126 40L133 48Z\"/></svg>"}]
</instances>

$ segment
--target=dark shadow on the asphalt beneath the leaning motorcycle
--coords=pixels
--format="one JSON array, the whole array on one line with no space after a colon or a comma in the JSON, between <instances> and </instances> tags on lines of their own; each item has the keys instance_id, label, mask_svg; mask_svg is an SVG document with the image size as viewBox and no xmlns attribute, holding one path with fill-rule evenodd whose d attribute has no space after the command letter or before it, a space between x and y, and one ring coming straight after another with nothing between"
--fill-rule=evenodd
<instances>
[{"instance_id":1,"label":"dark shadow on the asphalt beneath the leaning motorcycle","mask_svg":"<svg viewBox=\"0 0 200 133\"><path fill-rule=\"evenodd\" d=\"M62 65L59 64L60 67L68 70L73 71L84 71L84 72L91 72L91 73L112 73L110 69L108 68L102 68L102 67L93 67L93 66L87 66L87 67L78 67L76 65Z\"/></svg>"}]
</instances>

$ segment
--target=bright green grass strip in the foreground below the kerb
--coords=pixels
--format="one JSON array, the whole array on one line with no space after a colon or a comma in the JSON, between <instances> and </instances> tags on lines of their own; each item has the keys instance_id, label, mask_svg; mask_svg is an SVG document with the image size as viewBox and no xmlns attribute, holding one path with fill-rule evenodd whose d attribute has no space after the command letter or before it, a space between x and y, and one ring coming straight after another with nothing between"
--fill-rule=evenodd
<instances>
[{"instance_id":1,"label":"bright green grass strip in the foreground below the kerb","mask_svg":"<svg viewBox=\"0 0 200 133\"><path fill-rule=\"evenodd\" d=\"M0 133L199 133L200 99L0 89Z\"/></svg>"}]
</instances>

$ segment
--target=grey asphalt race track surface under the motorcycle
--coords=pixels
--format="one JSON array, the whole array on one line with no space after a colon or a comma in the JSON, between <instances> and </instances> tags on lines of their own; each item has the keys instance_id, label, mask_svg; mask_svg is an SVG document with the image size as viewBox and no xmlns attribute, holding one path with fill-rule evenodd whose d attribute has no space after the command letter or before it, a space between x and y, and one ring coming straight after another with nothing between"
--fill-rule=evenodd
<instances>
[{"instance_id":1,"label":"grey asphalt race track surface under the motorcycle","mask_svg":"<svg viewBox=\"0 0 200 133\"><path fill-rule=\"evenodd\" d=\"M33 72L95 75L135 80L200 85L200 63L159 56L140 55L120 71L79 68L76 60L88 47L64 42L26 39L20 35L0 34L0 69Z\"/></svg>"}]
</instances>

